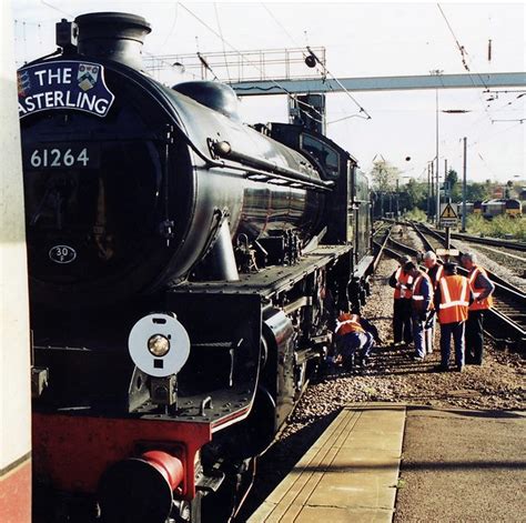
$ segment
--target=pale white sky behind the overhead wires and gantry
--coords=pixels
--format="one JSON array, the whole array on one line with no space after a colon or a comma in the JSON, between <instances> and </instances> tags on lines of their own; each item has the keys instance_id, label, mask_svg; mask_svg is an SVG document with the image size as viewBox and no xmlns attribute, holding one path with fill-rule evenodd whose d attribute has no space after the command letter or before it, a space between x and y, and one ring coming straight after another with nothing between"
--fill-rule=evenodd
<instances>
[{"instance_id":1,"label":"pale white sky behind the overhead wires and gantry","mask_svg":"<svg viewBox=\"0 0 526 523\"><path fill-rule=\"evenodd\" d=\"M152 26L148 56L191 54L198 50L325 48L326 66L336 78L421 76L432 70L472 74L526 71L524 2L174 2L13 0L18 66L54 50L54 23L95 11L143 16ZM441 9L442 8L442 12ZM219 37L222 34L223 41ZM488 41L492 59L488 60ZM458 44L457 44L458 42ZM225 74L225 68L219 76ZM301 72L301 71L300 71ZM305 71L312 73L312 70ZM235 68L229 68L231 76ZM166 73L168 74L168 73ZM171 71L166 81L188 74ZM468 140L468 179L526 179L526 86L498 94L479 89L441 90L441 171L444 160L462 173L462 138ZM357 105L345 93L327 97L327 134L368 172L383 157L407 177L423 177L435 157L435 91L353 92L371 120L356 118ZM488 98L494 98L489 100ZM285 97L244 98L244 121L286 121ZM505 121L496 121L505 120ZM405 161L411 157L411 161ZM421 178L424 179L424 178Z\"/></svg>"}]
</instances>

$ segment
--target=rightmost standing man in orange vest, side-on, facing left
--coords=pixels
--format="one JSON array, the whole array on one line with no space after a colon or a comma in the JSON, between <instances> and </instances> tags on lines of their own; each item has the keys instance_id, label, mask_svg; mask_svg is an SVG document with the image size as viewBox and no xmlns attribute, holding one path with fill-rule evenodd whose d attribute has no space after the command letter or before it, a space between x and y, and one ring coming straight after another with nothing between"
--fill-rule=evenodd
<instances>
[{"instance_id":1,"label":"rightmost standing man in orange vest, side-on, facing left","mask_svg":"<svg viewBox=\"0 0 526 523\"><path fill-rule=\"evenodd\" d=\"M482 365L484 355L484 313L493 305L495 284L486 271L477 265L474 253L462 255L462 264L469 271L467 279L475 301L469 305L466 322L466 363Z\"/></svg>"}]
</instances>

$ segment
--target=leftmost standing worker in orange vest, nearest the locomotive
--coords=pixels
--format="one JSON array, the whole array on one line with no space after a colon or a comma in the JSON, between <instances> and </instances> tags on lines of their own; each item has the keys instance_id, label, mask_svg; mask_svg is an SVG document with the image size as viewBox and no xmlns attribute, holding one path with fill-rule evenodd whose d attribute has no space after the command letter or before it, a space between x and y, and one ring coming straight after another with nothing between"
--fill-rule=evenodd
<instances>
[{"instance_id":1,"label":"leftmost standing worker in orange vest, nearest the locomotive","mask_svg":"<svg viewBox=\"0 0 526 523\"><path fill-rule=\"evenodd\" d=\"M411 288L413 276L404 272L404 265L411 258L403 255L399 259L399 266L390 278L390 285L394 288L393 303L393 344L408 345L413 341L413 329L411 324Z\"/></svg>"}]
</instances>

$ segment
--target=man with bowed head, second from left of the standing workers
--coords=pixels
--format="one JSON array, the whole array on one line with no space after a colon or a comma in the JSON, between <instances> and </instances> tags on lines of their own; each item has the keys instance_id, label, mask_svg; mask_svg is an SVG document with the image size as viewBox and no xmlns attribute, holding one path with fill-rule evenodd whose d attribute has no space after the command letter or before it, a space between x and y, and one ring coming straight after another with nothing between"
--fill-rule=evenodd
<instances>
[{"instance_id":1,"label":"man with bowed head, second from left of the standing workers","mask_svg":"<svg viewBox=\"0 0 526 523\"><path fill-rule=\"evenodd\" d=\"M423 361L427 353L425 328L433 311L433 286L431 278L413 262L404 265L404 272L414 280L413 295L411 298L411 318L413 321L413 338L415 340L415 354L413 359Z\"/></svg>"}]
</instances>

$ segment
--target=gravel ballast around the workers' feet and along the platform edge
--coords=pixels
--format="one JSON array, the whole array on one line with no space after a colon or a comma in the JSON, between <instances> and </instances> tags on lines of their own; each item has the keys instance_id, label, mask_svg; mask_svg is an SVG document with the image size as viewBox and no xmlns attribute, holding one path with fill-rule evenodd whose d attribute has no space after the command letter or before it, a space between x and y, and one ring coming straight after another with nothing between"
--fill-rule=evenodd
<instances>
[{"instance_id":1,"label":"gravel ballast around the workers' feet and along the platform edge","mask_svg":"<svg viewBox=\"0 0 526 523\"><path fill-rule=\"evenodd\" d=\"M391 346L393 289L387 280L396 266L391 259L380 263L363 311L377 326L383 346L374 349L366 370L335 369L306 390L279 441L260 459L256 482L237 521L244 521L263 502L348 403L387 401L496 411L525 408L525 366L519 354L497 351L486 340L482 366L438 373L438 335L434 353L424 362L414 362L411 349Z\"/></svg>"}]
</instances>

